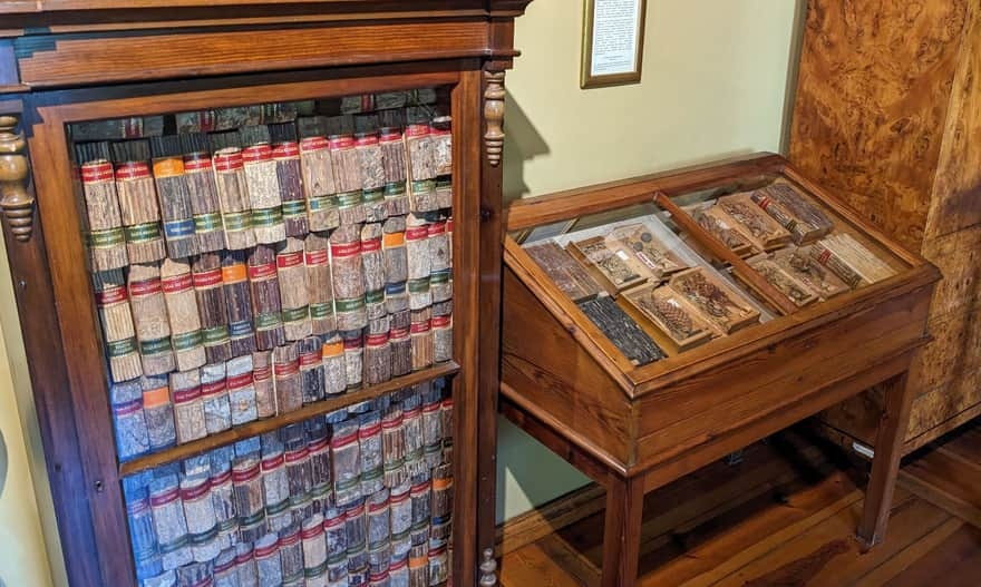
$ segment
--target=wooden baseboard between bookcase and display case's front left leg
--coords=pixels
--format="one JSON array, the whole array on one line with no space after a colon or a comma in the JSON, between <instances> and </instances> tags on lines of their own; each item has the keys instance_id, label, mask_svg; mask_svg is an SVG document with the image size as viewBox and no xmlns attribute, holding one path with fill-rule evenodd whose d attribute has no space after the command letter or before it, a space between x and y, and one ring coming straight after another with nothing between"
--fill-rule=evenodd
<instances>
[{"instance_id":1,"label":"wooden baseboard between bookcase and display case's front left leg","mask_svg":"<svg viewBox=\"0 0 981 587\"><path fill-rule=\"evenodd\" d=\"M605 496L602 487L590 483L505 521L497 527L494 545L496 557L501 558L601 511L606 505Z\"/></svg>"}]
</instances>

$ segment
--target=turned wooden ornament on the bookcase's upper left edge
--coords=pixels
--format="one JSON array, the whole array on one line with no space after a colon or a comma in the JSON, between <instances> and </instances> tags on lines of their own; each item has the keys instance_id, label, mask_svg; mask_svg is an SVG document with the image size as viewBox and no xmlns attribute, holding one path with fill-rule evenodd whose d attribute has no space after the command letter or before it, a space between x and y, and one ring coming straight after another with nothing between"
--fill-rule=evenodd
<instances>
[{"instance_id":1,"label":"turned wooden ornament on the bookcase's upper left edge","mask_svg":"<svg viewBox=\"0 0 981 587\"><path fill-rule=\"evenodd\" d=\"M0 114L0 208L14 238L30 239L35 198L30 195L30 166L18 115Z\"/></svg>"}]
</instances>

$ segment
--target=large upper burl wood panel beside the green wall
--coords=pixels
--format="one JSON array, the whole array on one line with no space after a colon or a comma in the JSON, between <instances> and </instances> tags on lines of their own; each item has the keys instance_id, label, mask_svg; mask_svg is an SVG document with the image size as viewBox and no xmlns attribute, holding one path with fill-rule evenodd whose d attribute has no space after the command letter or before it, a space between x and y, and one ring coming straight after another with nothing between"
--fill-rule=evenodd
<instances>
[{"instance_id":1,"label":"large upper burl wood panel beside the green wall","mask_svg":"<svg viewBox=\"0 0 981 587\"><path fill-rule=\"evenodd\" d=\"M968 0L812 0L790 160L917 251Z\"/></svg>"}]
</instances>

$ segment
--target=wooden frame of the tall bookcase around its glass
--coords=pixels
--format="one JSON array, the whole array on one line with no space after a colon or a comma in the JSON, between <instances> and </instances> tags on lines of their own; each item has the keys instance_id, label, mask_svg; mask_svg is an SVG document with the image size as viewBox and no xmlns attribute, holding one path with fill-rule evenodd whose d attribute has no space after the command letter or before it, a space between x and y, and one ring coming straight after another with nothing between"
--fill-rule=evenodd
<instances>
[{"instance_id":1,"label":"wooden frame of the tall bookcase around its glass","mask_svg":"<svg viewBox=\"0 0 981 587\"><path fill-rule=\"evenodd\" d=\"M136 583L124 477L436 376L454 402L453 581L494 584L504 76L528 2L0 2L0 207L72 585ZM453 360L120 462L70 126L434 87L453 118Z\"/></svg>"}]
</instances>

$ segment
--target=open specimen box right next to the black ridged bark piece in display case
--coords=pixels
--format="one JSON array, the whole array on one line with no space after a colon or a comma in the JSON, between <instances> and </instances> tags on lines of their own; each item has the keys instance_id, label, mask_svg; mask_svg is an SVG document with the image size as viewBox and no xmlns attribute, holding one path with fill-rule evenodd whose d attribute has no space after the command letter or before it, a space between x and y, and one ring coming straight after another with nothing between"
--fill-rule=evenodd
<instances>
[{"instance_id":1,"label":"open specimen box right next to the black ridged bark piece in display case","mask_svg":"<svg viewBox=\"0 0 981 587\"><path fill-rule=\"evenodd\" d=\"M678 348L687 351L712 337L713 329L678 292L668 286L645 285L625 292L630 310L649 320Z\"/></svg>"}]
</instances>

